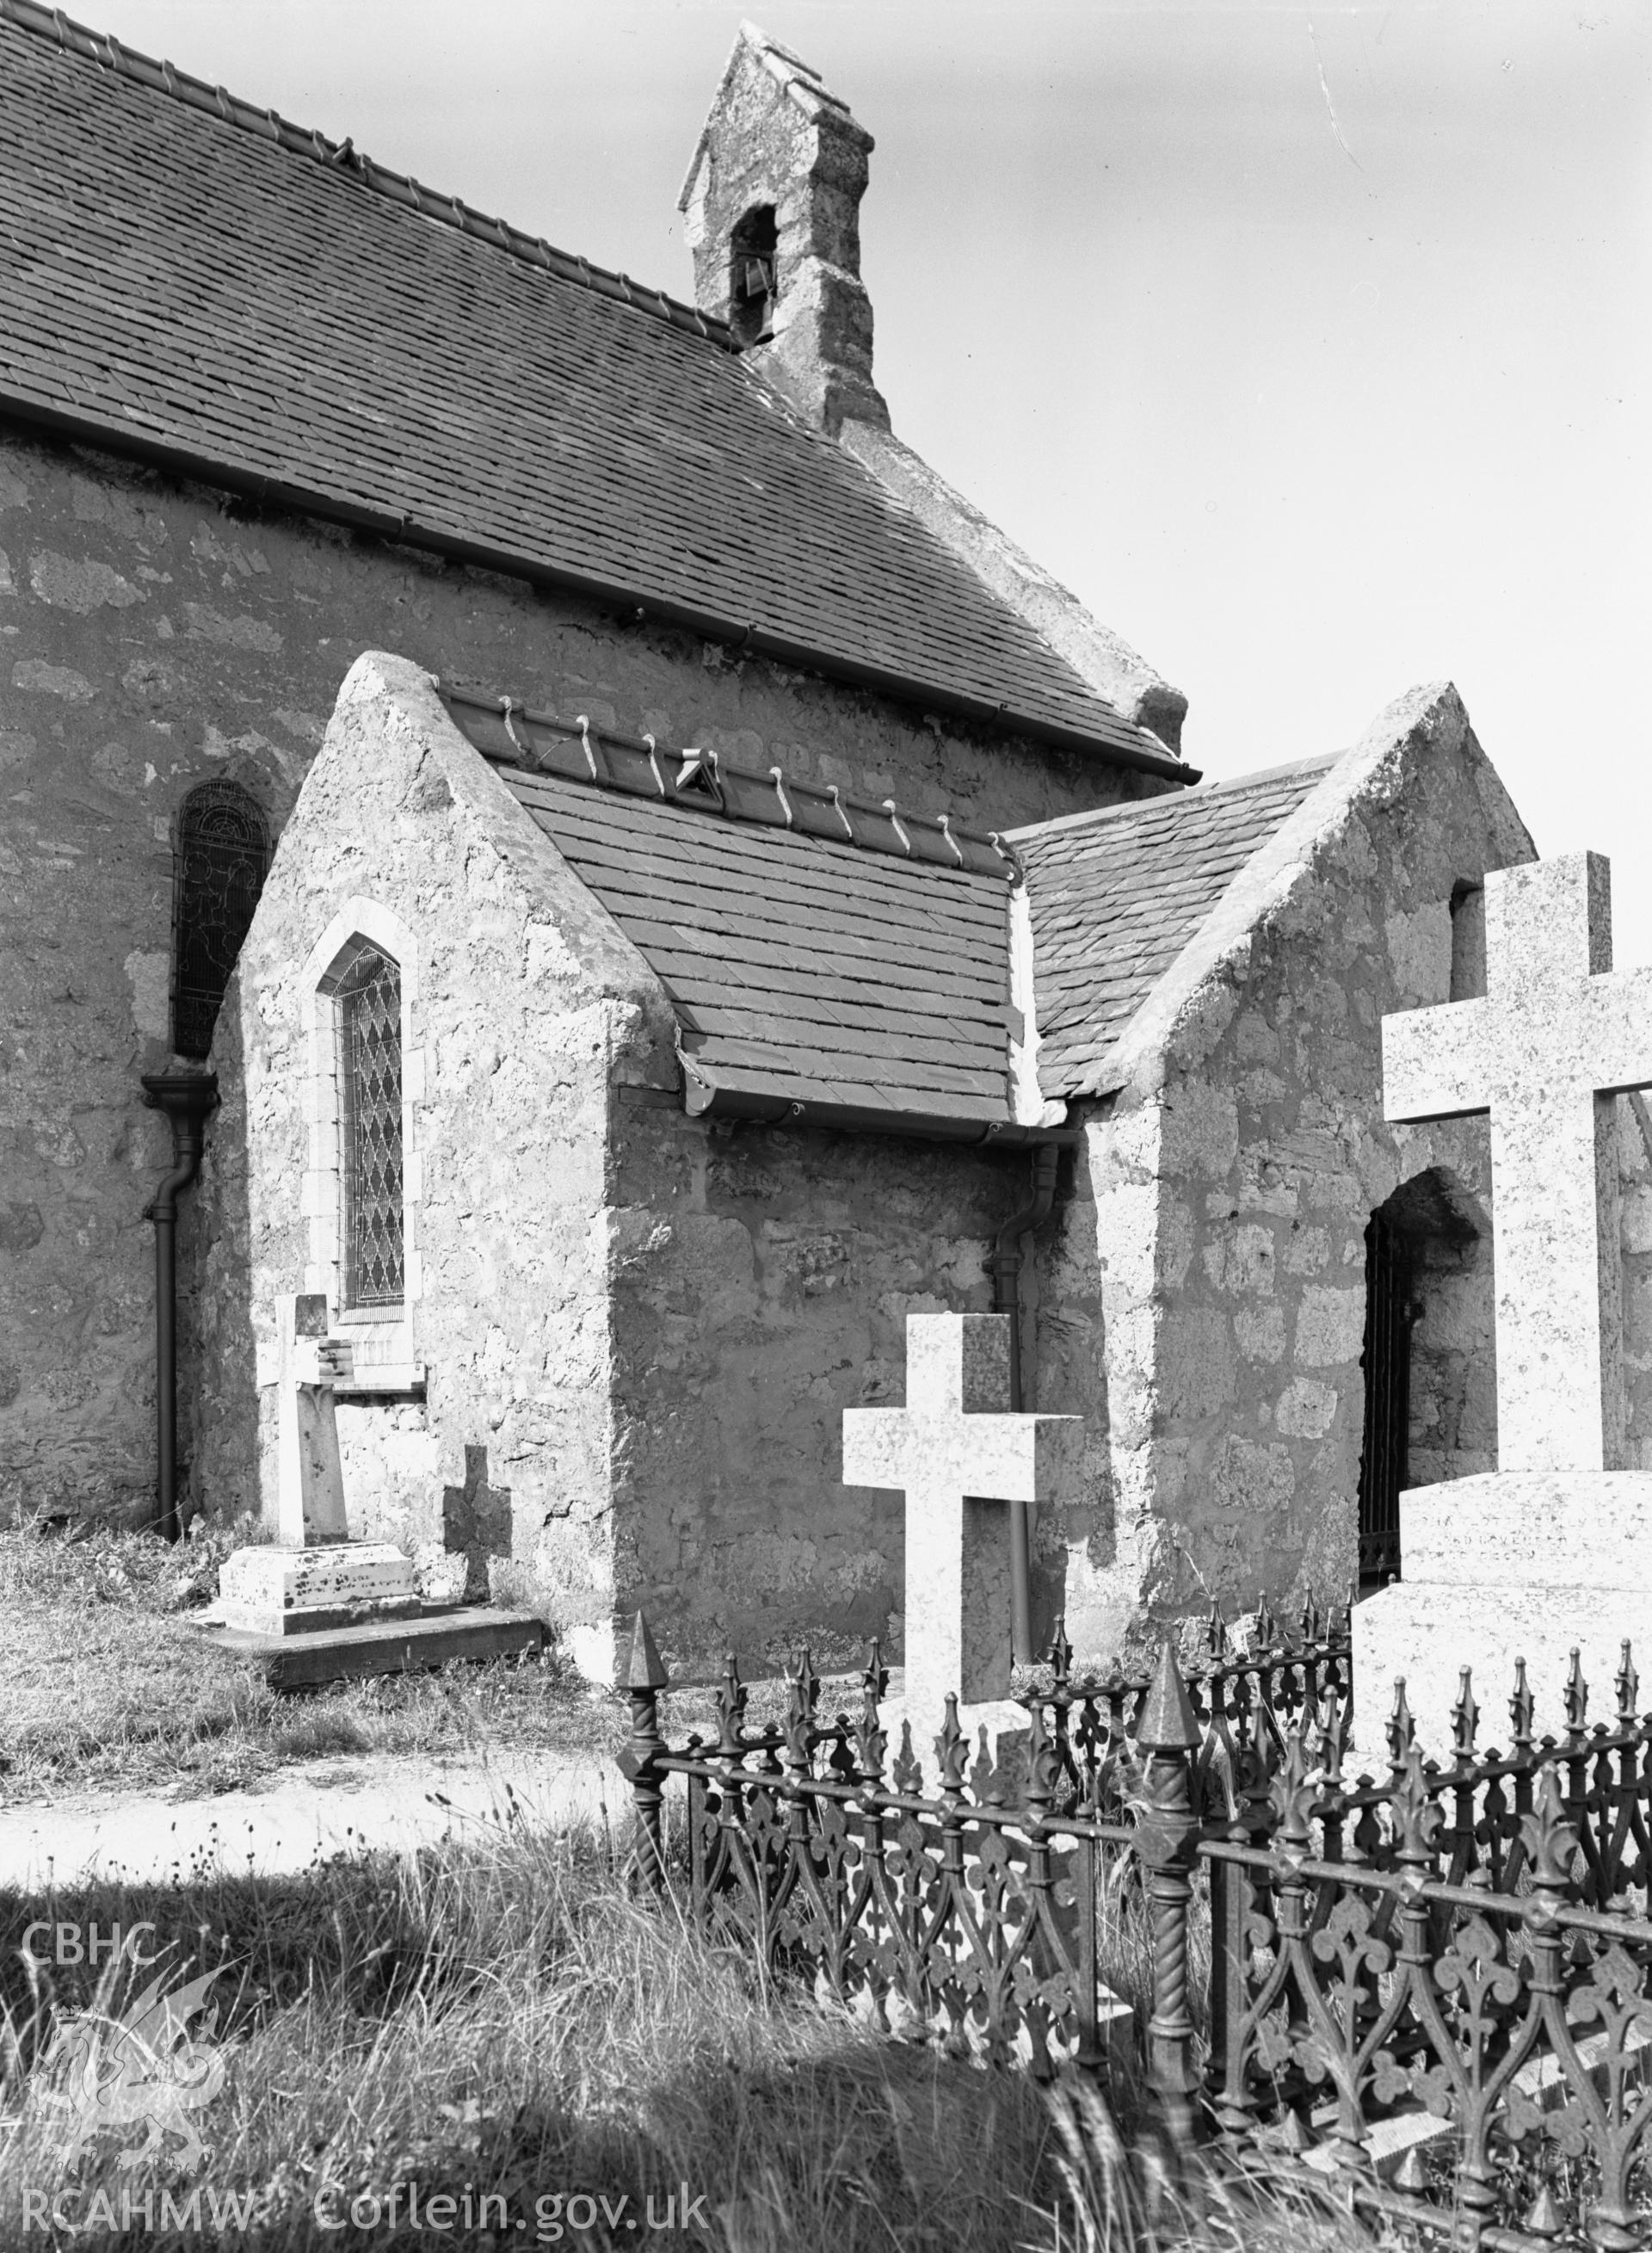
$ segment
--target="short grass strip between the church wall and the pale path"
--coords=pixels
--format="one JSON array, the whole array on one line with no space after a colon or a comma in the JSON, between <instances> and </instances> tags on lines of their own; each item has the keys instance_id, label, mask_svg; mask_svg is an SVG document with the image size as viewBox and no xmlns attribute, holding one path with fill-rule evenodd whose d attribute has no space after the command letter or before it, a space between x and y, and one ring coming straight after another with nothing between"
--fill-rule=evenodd
<instances>
[{"instance_id":1,"label":"short grass strip between the church wall and the pale path","mask_svg":"<svg viewBox=\"0 0 1652 2253\"><path fill-rule=\"evenodd\" d=\"M232 1791L293 1762L390 1753L606 1753L624 1701L545 1658L448 1665L277 1697L255 1660L203 1642L246 1528L171 1546L146 1532L0 1532L0 1789Z\"/></svg>"}]
</instances>

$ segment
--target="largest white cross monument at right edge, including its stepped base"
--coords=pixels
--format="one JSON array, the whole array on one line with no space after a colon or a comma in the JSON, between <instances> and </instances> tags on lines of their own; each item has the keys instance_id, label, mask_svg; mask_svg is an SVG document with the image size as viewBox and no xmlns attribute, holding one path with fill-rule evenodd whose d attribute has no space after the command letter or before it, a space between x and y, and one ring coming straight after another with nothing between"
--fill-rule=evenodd
<instances>
[{"instance_id":1,"label":"largest white cross monument at right edge, including its stepped base","mask_svg":"<svg viewBox=\"0 0 1652 2253\"><path fill-rule=\"evenodd\" d=\"M1627 1469L1611 1095L1652 1086L1652 969L1611 969L1609 867L1569 854L1485 879L1485 998L1384 1018L1391 1120L1490 1113L1496 1471L1409 1487L1400 1582L1355 1606L1361 1753L1397 1678L1449 1757L1458 1669L1503 1742L1515 1660L1537 1733L1578 1647L1596 1708L1627 1638L1652 1651L1652 1473Z\"/></svg>"}]
</instances>

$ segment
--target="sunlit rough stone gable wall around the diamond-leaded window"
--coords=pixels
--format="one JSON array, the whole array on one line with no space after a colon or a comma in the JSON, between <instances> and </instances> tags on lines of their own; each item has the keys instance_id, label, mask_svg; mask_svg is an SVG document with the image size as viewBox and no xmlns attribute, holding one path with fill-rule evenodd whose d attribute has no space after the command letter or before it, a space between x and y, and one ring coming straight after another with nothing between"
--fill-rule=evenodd
<instances>
[{"instance_id":1,"label":"sunlit rough stone gable wall around the diamond-leaded window","mask_svg":"<svg viewBox=\"0 0 1652 2253\"><path fill-rule=\"evenodd\" d=\"M539 1602L590 1663L613 1602L611 1086L676 1075L672 1014L394 658L367 656L345 683L219 1018L194 1498L275 1514L275 1388L255 1392L257 1345L275 1336L277 1291L316 1289L316 1061L331 1084L331 1027L313 1059L302 967L356 899L408 933L406 1304L428 1379L424 1401L340 1406L349 1528L399 1541L448 1588L444 1496L485 1449L489 1498L460 1505L498 1521L482 1573L494 1595Z\"/></svg>"}]
</instances>

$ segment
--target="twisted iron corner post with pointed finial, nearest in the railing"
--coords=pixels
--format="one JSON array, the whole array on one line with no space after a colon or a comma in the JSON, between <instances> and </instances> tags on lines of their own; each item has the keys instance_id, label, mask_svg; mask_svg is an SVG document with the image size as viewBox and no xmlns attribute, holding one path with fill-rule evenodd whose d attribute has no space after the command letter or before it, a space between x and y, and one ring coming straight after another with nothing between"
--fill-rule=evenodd
<instances>
[{"instance_id":1,"label":"twisted iron corner post with pointed finial, nearest in the railing","mask_svg":"<svg viewBox=\"0 0 1652 2253\"><path fill-rule=\"evenodd\" d=\"M1147 1755L1147 1791L1136 1847L1147 1870L1147 1913L1154 1929L1154 2014L1147 2021L1147 2077L1156 2089L1172 2145L1185 2149L1199 2134L1192 2102L1192 2014L1188 2010L1188 1911L1192 1906L1192 1757L1199 1724L1165 1642L1158 1674L1147 1690L1136 1748Z\"/></svg>"}]
</instances>

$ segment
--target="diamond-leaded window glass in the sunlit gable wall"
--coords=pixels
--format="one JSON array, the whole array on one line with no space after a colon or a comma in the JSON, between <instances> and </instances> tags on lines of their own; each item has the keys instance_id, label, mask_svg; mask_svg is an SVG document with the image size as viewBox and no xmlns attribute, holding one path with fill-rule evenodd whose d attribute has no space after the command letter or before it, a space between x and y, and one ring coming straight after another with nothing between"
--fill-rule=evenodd
<instances>
[{"instance_id":1,"label":"diamond-leaded window glass in the sunlit gable wall","mask_svg":"<svg viewBox=\"0 0 1652 2253\"><path fill-rule=\"evenodd\" d=\"M399 1307L401 971L363 946L336 987L345 1307Z\"/></svg>"}]
</instances>

